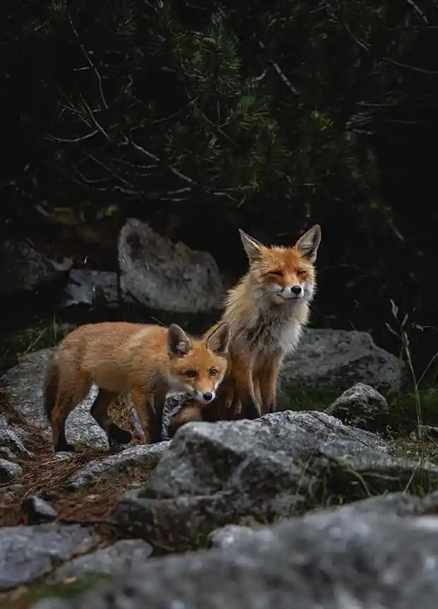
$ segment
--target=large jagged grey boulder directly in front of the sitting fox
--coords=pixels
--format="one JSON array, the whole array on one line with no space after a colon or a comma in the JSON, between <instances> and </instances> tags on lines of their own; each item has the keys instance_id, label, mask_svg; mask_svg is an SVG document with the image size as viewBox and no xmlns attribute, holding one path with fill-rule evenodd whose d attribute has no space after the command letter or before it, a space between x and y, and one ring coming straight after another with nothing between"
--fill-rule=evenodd
<instances>
[{"instance_id":1,"label":"large jagged grey boulder directly in front of the sitting fox","mask_svg":"<svg viewBox=\"0 0 438 609\"><path fill-rule=\"evenodd\" d=\"M188 423L148 484L119 499L114 518L160 548L186 551L207 545L220 526L271 522L438 482L437 466L397 459L390 449L324 413Z\"/></svg>"}]
</instances>

